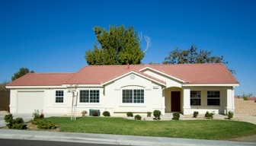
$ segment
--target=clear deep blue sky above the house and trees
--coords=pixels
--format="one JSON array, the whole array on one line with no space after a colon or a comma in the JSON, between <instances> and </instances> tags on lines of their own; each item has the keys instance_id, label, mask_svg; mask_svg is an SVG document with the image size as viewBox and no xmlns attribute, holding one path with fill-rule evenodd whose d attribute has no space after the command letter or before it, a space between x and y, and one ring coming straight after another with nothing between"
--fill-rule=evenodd
<instances>
[{"instance_id":1,"label":"clear deep blue sky above the house and trees","mask_svg":"<svg viewBox=\"0 0 256 146\"><path fill-rule=\"evenodd\" d=\"M0 82L21 67L78 71L94 48L92 28L121 24L151 38L143 63L196 45L229 62L240 82L235 94L256 96L254 0L0 0Z\"/></svg>"}]
</instances>

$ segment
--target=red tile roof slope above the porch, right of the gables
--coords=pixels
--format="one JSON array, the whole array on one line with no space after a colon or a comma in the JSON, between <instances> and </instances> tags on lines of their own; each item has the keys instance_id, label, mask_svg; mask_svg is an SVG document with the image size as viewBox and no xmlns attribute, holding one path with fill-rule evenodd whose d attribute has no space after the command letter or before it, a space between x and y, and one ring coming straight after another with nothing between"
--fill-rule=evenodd
<instances>
[{"instance_id":1,"label":"red tile roof slope above the porch, right of the gables","mask_svg":"<svg viewBox=\"0 0 256 146\"><path fill-rule=\"evenodd\" d=\"M188 84L238 84L232 73L221 63L149 65L149 67L187 81Z\"/></svg>"}]
</instances>

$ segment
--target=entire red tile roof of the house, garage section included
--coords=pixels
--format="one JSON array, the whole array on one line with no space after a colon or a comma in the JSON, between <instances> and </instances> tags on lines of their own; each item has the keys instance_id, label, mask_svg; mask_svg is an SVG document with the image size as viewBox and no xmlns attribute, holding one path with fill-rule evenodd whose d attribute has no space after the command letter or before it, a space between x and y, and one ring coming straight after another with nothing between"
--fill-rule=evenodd
<instances>
[{"instance_id":1,"label":"entire red tile roof of the house, garage section included","mask_svg":"<svg viewBox=\"0 0 256 146\"><path fill-rule=\"evenodd\" d=\"M159 74L178 78L183 84L238 84L225 65L180 64L180 65L88 65L75 74L37 74L30 73L8 86L38 86L61 84L104 84L129 72L150 78L165 84L158 78L143 73L146 69L158 71Z\"/></svg>"}]
</instances>

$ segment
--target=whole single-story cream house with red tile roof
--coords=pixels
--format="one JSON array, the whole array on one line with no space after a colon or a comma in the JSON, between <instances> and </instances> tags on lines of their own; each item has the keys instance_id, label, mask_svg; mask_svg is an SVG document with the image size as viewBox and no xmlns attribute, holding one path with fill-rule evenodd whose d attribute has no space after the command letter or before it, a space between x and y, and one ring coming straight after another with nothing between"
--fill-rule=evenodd
<instances>
[{"instance_id":1,"label":"whole single-story cream house with red tile roof","mask_svg":"<svg viewBox=\"0 0 256 146\"><path fill-rule=\"evenodd\" d=\"M127 112L189 115L235 109L238 81L225 65L87 65L76 73L29 73L7 85L10 112L46 114L98 109L111 115ZM69 92L73 90L73 93ZM73 98L77 101L72 104Z\"/></svg>"}]
</instances>

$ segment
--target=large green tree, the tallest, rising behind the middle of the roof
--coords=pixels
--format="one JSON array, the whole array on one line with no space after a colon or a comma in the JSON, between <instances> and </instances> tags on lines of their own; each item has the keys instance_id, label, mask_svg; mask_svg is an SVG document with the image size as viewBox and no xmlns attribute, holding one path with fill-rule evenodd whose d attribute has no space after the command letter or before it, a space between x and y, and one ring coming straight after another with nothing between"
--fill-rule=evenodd
<instances>
[{"instance_id":1,"label":"large green tree, the tallest, rising behind the middle of the roof","mask_svg":"<svg viewBox=\"0 0 256 146\"><path fill-rule=\"evenodd\" d=\"M93 50L85 52L88 65L134 65L140 64L144 52L140 48L138 34L133 27L125 29L110 26L109 31L101 27L94 27L97 37Z\"/></svg>"}]
</instances>

